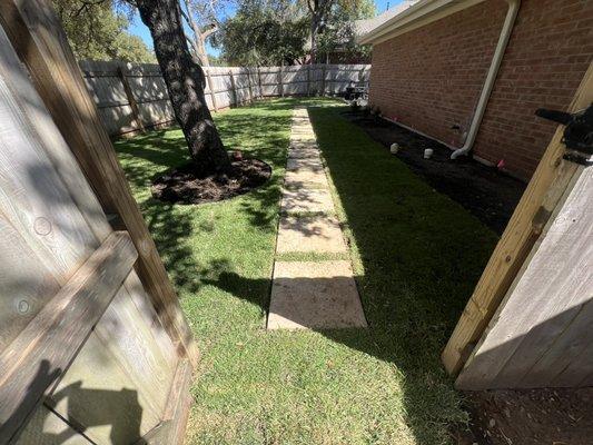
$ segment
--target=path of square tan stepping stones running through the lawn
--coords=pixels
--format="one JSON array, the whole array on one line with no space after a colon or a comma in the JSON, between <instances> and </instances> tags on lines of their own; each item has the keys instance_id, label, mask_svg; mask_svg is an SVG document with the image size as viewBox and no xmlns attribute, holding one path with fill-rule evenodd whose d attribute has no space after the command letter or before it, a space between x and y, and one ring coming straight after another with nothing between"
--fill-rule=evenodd
<instances>
[{"instance_id":1,"label":"path of square tan stepping stones running through the lawn","mask_svg":"<svg viewBox=\"0 0 593 445\"><path fill-rule=\"evenodd\" d=\"M276 255L347 255L307 109L293 113ZM268 329L366 327L350 263L276 260Z\"/></svg>"}]
</instances>

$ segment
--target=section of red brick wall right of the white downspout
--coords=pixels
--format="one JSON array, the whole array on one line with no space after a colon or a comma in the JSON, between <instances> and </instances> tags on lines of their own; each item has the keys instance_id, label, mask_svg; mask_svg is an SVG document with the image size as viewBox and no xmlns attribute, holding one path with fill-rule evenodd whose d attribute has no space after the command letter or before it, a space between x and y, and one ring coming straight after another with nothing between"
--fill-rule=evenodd
<instances>
[{"instance_id":1,"label":"section of red brick wall right of the white downspout","mask_svg":"<svg viewBox=\"0 0 593 445\"><path fill-rule=\"evenodd\" d=\"M593 60L593 0L523 0L474 151L531 178L556 125L533 115L565 110Z\"/></svg>"}]
</instances>

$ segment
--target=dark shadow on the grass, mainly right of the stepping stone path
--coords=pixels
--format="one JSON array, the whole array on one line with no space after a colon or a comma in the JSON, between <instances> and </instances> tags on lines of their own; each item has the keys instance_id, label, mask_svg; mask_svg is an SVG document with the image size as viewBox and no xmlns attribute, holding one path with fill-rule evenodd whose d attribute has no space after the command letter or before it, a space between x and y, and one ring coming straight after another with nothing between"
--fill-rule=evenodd
<instances>
[{"instance_id":1,"label":"dark shadow on the grass, mainly right of the stepping stone path","mask_svg":"<svg viewBox=\"0 0 593 445\"><path fill-rule=\"evenodd\" d=\"M346 238L359 255L355 279L368 320L368 328L312 328L394 364L405 377L406 422L417 443L433 444L427 424L462 419L458 412L454 418L442 413L455 402L439 354L496 236L330 109L309 108L309 115L342 201ZM342 136L336 139L336 134ZM269 280L219 267L229 261L211 265L218 271L202 283L267 312L268 298L259 290Z\"/></svg>"}]
</instances>

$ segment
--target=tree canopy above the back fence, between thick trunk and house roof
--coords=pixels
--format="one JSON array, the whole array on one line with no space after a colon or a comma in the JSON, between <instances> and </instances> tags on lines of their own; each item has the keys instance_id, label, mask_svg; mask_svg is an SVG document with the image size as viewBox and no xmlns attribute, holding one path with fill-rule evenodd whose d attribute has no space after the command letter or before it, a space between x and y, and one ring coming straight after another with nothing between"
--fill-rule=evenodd
<instances>
[{"instance_id":1,"label":"tree canopy above the back fence, between thick trunk and house roof","mask_svg":"<svg viewBox=\"0 0 593 445\"><path fill-rule=\"evenodd\" d=\"M237 13L221 23L214 44L228 63L241 66L304 63L315 53L367 53L355 42L354 21L374 16L373 0L312 1L238 0Z\"/></svg>"}]
</instances>

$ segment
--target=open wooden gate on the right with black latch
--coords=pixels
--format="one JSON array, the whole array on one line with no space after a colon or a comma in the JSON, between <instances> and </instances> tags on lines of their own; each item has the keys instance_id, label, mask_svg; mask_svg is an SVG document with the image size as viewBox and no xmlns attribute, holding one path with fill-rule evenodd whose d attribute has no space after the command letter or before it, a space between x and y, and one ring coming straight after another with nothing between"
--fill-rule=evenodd
<instances>
[{"instance_id":1,"label":"open wooden gate on the right with black latch","mask_svg":"<svg viewBox=\"0 0 593 445\"><path fill-rule=\"evenodd\" d=\"M593 102L593 63L571 110ZM462 389L593 384L593 166L559 128L455 328ZM486 328L487 325L487 328Z\"/></svg>"}]
</instances>

